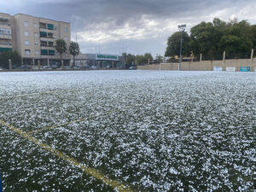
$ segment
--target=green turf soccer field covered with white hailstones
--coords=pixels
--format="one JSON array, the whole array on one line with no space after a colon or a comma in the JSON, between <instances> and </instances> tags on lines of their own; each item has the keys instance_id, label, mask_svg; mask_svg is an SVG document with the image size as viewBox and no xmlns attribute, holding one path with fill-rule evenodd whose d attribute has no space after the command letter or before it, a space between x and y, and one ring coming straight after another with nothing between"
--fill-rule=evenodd
<instances>
[{"instance_id":1,"label":"green turf soccer field covered with white hailstones","mask_svg":"<svg viewBox=\"0 0 256 192\"><path fill-rule=\"evenodd\" d=\"M0 107L3 191L255 189L256 73L0 73Z\"/></svg>"}]
</instances>

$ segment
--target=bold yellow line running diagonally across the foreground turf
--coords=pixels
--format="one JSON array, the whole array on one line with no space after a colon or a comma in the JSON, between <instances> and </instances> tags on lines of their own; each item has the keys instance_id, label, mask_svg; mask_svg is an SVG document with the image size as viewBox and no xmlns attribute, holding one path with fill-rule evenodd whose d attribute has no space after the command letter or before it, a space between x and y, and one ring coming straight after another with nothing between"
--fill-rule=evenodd
<instances>
[{"instance_id":1,"label":"bold yellow line running diagonally across the foreground turf","mask_svg":"<svg viewBox=\"0 0 256 192\"><path fill-rule=\"evenodd\" d=\"M61 153L61 151L51 148L48 144L40 142L38 139L28 135L26 132L21 131L13 125L9 125L8 123L4 122L2 119L0 119L0 124L3 126L8 127L10 130L15 131L15 133L18 133L21 137L26 138L32 143L37 144L39 147L44 148L45 150L49 151L51 154L54 154L56 157L61 158L62 160L67 161L73 166L78 167L80 170L82 170L84 173L95 177L96 179L102 181L103 183L107 184L109 187L112 187L113 189L117 189L119 192L130 192L132 191L129 186L125 186L122 183L119 183L118 181L115 181L113 179L110 179L108 177L105 177L101 172L97 171L94 168L91 167L85 167L83 164L81 164L78 160L73 159L73 157L68 156L67 154Z\"/></svg>"}]
</instances>

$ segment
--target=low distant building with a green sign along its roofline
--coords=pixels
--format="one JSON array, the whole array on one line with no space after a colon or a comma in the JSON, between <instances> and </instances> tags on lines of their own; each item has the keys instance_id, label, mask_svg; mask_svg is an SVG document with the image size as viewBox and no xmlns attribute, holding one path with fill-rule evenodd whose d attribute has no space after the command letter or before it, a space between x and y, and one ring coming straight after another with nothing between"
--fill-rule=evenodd
<instances>
[{"instance_id":1,"label":"low distant building with a green sign along its roofline","mask_svg":"<svg viewBox=\"0 0 256 192\"><path fill-rule=\"evenodd\" d=\"M125 59L121 55L79 54L75 57L75 66L88 68L125 68Z\"/></svg>"}]
</instances>

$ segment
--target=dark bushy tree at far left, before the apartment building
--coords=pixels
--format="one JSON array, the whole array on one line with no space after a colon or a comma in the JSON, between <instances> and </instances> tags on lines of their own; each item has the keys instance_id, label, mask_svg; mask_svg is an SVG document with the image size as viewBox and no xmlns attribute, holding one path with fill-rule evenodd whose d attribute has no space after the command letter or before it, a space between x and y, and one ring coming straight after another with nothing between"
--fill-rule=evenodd
<instances>
[{"instance_id":1,"label":"dark bushy tree at far left, before the apartment building","mask_svg":"<svg viewBox=\"0 0 256 192\"><path fill-rule=\"evenodd\" d=\"M5 51L0 53L0 66L9 69L9 59L12 61L13 67L20 67L21 56L18 54L17 51Z\"/></svg>"}]
</instances>

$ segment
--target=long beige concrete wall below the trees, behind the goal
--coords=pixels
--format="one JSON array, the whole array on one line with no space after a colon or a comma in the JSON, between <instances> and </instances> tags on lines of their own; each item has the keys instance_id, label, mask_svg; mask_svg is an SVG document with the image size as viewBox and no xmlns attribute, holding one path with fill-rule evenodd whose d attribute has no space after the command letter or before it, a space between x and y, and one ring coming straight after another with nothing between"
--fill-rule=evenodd
<instances>
[{"instance_id":1,"label":"long beige concrete wall below the trees, behind the goal","mask_svg":"<svg viewBox=\"0 0 256 192\"><path fill-rule=\"evenodd\" d=\"M181 64L182 71L212 71L213 67L223 67L223 71L226 67L236 67L236 71L239 71L240 67L251 67L251 71L254 71L256 67L256 59L236 59L225 61L183 61ZM148 66L137 66L138 70L178 70L178 63L162 63L153 64Z\"/></svg>"}]
</instances>

